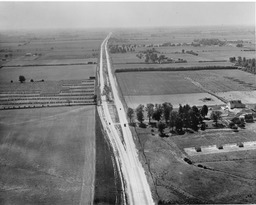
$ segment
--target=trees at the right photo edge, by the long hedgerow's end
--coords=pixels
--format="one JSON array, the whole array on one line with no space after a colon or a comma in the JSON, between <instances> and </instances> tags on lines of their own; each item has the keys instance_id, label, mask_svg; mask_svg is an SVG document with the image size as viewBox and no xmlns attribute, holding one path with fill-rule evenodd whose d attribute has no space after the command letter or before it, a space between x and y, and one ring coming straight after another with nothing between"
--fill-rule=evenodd
<instances>
[{"instance_id":1,"label":"trees at the right photo edge, by the long hedgerow's end","mask_svg":"<svg viewBox=\"0 0 256 205\"><path fill-rule=\"evenodd\" d=\"M238 56L236 57L230 57L229 61L232 63L235 63L236 66L243 67L244 71L250 72L250 73L256 73L255 68L255 58L252 59L246 59L245 57Z\"/></svg>"}]
</instances>

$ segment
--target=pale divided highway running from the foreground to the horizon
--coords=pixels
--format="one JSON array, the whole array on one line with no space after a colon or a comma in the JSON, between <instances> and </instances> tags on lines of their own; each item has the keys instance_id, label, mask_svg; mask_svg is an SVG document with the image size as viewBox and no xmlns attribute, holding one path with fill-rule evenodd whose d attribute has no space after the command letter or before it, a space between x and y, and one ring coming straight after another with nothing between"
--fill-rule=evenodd
<instances>
[{"instance_id":1,"label":"pale divided highway running from the foreground to the horizon","mask_svg":"<svg viewBox=\"0 0 256 205\"><path fill-rule=\"evenodd\" d=\"M110 36L111 33L101 44L99 67L101 105L98 106L98 112L109 142L113 147L116 162L118 164L118 171L121 172L123 176L122 187L126 194L126 197L123 196L124 204L150 205L154 204L150 187L147 182L145 171L139 161L138 151L128 126L126 112L118 94L118 85L115 76L111 71L110 57L107 49ZM107 72L106 70L103 71L104 65L106 65L105 69L107 68ZM104 73L107 73L107 75L105 74L104 76ZM106 93L104 92L104 86L107 79L110 83L113 102L107 101ZM113 123L111 118L109 111L110 104L116 107L119 118L118 125L121 127L123 140L122 136L120 136L120 131L117 130L117 123Z\"/></svg>"}]
</instances>

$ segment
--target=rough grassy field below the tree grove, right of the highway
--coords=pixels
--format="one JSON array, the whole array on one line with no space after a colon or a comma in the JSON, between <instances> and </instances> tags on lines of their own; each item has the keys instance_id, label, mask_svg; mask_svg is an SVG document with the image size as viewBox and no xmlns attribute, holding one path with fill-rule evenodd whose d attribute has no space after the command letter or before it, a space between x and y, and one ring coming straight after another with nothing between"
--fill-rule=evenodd
<instances>
[{"instance_id":1,"label":"rough grassy field below the tree grove, right of the highway","mask_svg":"<svg viewBox=\"0 0 256 205\"><path fill-rule=\"evenodd\" d=\"M148 167L152 173L159 200L170 204L255 202L256 182L253 172L255 150L251 151L250 155L243 152L228 153L227 158L214 155L212 157L215 158L212 159L217 161L212 162L199 160L200 164L215 168L215 171L205 170L185 163L183 158L186 155L179 147L183 143L194 143L193 140L199 138L196 134L161 138L157 134L152 135L151 129L136 128L136 131L142 146L141 152L149 163ZM213 138L212 136L211 139ZM233 140L231 137L228 139ZM206 137L202 139L202 142L207 141L210 142L210 139ZM176 142L180 144L177 145ZM240 160L232 161L236 159L235 156ZM245 156L251 156L254 159L246 160ZM211 160L210 156L207 158ZM220 161L223 159L225 161ZM192 158L192 160L195 159Z\"/></svg>"}]
</instances>

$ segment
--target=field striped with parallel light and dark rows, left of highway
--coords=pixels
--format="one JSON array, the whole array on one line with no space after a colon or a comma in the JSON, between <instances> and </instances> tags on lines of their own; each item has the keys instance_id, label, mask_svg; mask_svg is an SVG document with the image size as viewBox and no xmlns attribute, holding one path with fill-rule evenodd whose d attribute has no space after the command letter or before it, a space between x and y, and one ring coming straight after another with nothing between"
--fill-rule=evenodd
<instances>
[{"instance_id":1,"label":"field striped with parallel light and dark rows, left of highway","mask_svg":"<svg viewBox=\"0 0 256 205\"><path fill-rule=\"evenodd\" d=\"M0 109L94 104L94 80L1 83Z\"/></svg>"}]
</instances>

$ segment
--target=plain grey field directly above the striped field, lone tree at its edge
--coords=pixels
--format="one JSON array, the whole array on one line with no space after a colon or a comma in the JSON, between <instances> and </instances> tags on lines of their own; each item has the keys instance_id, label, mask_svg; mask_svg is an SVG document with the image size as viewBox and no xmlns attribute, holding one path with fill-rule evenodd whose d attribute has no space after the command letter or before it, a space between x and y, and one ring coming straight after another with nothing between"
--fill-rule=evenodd
<instances>
[{"instance_id":1,"label":"plain grey field directly above the striped field, lone tree at its edge","mask_svg":"<svg viewBox=\"0 0 256 205\"><path fill-rule=\"evenodd\" d=\"M59 81L88 79L95 76L96 65L65 65L65 66L32 66L32 67L4 67L0 69L1 82L18 82L19 76L24 75L27 81Z\"/></svg>"}]
</instances>

